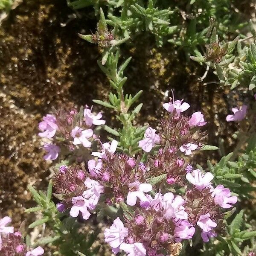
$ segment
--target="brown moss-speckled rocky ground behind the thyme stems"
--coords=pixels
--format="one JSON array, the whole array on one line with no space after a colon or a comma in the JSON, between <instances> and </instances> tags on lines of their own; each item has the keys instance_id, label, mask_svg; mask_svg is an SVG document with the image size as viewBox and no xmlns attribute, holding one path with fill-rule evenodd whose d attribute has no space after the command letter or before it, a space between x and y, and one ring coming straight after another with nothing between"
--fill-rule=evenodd
<instances>
[{"instance_id":1,"label":"brown moss-speckled rocky ground behind the thyme stems","mask_svg":"<svg viewBox=\"0 0 256 256\"><path fill-rule=\"evenodd\" d=\"M45 189L47 184L49 165L42 159L36 135L41 117L52 106L92 105L92 99L107 97L108 81L96 64L99 51L78 37L95 27L92 9L82 15L65 0L23 0L0 27L0 215L11 216L15 227L27 217L24 209L33 204L27 185ZM133 43L122 54L133 57L126 90L144 90L137 122L156 125L163 115L161 104L174 88L177 99L186 98L192 105L189 113L201 110L206 115L207 143L218 145L223 138L226 153L230 151L234 126L225 122L225 116L243 99L243 92L236 95L212 83L217 78L211 73L199 81L204 67L186 64L182 52L170 45L155 49L150 37ZM107 124L117 125L112 114L105 110ZM199 154L196 161L204 164L207 157L220 156Z\"/></svg>"}]
</instances>

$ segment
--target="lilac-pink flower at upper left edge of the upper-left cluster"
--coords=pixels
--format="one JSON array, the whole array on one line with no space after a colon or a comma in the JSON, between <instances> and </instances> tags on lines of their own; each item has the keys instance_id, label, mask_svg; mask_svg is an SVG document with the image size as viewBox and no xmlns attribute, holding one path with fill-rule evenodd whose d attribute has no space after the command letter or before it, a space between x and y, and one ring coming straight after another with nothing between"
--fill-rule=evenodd
<instances>
[{"instance_id":1,"label":"lilac-pink flower at upper left edge of the upper-left cluster","mask_svg":"<svg viewBox=\"0 0 256 256\"><path fill-rule=\"evenodd\" d=\"M39 123L39 129L43 131L38 134L40 137L52 138L58 130L55 116L44 116L43 121Z\"/></svg>"}]
</instances>

